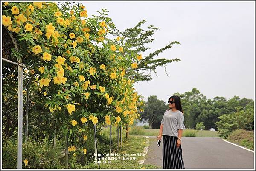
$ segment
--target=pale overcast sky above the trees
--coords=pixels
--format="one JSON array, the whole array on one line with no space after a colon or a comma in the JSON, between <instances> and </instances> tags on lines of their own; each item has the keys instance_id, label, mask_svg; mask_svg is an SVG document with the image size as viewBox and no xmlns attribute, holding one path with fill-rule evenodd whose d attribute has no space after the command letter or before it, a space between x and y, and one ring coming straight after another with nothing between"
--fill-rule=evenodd
<instances>
[{"instance_id":1,"label":"pale overcast sky above the trees","mask_svg":"<svg viewBox=\"0 0 256 171\"><path fill-rule=\"evenodd\" d=\"M81 2L81 1L80 1ZM197 88L207 99L234 95L255 100L254 1L82 1L89 17L107 8L108 17L123 31L139 21L160 27L148 44L147 56L169 42L178 41L157 58L181 61L167 65L169 77L158 67L153 80L135 84L147 99L167 101L173 93ZM167 102L166 102L167 103Z\"/></svg>"}]
</instances>

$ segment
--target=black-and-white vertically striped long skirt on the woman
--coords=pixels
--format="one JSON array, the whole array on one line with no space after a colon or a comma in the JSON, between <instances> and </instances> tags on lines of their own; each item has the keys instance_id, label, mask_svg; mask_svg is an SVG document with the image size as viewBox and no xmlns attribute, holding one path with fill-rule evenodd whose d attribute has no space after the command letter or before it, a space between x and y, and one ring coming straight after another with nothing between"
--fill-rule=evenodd
<instances>
[{"instance_id":1,"label":"black-and-white vertically striped long skirt on the woman","mask_svg":"<svg viewBox=\"0 0 256 171\"><path fill-rule=\"evenodd\" d=\"M177 148L178 137L163 135L163 168L185 168L181 146Z\"/></svg>"}]
</instances>

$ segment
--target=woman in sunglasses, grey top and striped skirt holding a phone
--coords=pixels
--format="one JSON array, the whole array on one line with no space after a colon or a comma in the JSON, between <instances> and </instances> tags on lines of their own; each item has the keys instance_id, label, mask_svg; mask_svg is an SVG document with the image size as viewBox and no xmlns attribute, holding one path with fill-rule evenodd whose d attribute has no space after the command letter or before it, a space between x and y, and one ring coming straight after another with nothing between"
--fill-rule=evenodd
<instances>
[{"instance_id":1,"label":"woman in sunglasses, grey top and striped skirt holding a phone","mask_svg":"<svg viewBox=\"0 0 256 171\"><path fill-rule=\"evenodd\" d=\"M163 168L180 169L185 168L181 136L184 126L184 116L180 98L173 95L168 101L169 108L164 112L157 140L161 140L163 133Z\"/></svg>"}]
</instances>

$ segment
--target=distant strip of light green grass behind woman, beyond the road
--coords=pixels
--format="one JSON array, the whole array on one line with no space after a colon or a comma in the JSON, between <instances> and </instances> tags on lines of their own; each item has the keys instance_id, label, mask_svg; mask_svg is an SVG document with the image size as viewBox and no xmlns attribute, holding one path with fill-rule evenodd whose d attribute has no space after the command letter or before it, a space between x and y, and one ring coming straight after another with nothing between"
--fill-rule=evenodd
<instances>
[{"instance_id":1,"label":"distant strip of light green grass behind woman, beyond the road","mask_svg":"<svg viewBox=\"0 0 256 171\"><path fill-rule=\"evenodd\" d=\"M129 135L133 135L132 133L136 132L136 135L148 135L148 136L157 136L159 134L159 129L144 129L143 126L137 126L137 128L140 127L140 131L135 131L133 129L136 129L136 127L131 127L131 130L129 132ZM102 132L104 132L106 135L109 136L109 127L103 128ZM112 126L112 136L116 136L116 129L115 126ZM126 132L123 129L122 130L122 136L125 137ZM194 130L194 129L184 129L183 130L183 137L219 137L217 131L206 131L206 130Z\"/></svg>"}]
</instances>

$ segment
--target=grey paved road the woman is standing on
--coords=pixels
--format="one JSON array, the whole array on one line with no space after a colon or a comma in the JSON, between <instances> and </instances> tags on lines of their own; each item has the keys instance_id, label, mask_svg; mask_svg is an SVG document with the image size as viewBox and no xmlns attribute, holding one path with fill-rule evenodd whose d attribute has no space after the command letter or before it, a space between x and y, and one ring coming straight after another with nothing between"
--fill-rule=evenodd
<instances>
[{"instance_id":1,"label":"grey paved road the woman is standing on","mask_svg":"<svg viewBox=\"0 0 256 171\"><path fill-rule=\"evenodd\" d=\"M163 168L162 148L157 146L157 137L151 141L144 164ZM253 169L254 153L227 143L218 137L182 137L182 156L188 169Z\"/></svg>"}]
</instances>

